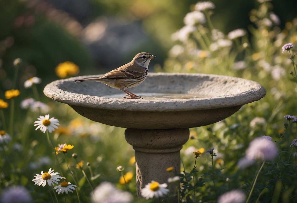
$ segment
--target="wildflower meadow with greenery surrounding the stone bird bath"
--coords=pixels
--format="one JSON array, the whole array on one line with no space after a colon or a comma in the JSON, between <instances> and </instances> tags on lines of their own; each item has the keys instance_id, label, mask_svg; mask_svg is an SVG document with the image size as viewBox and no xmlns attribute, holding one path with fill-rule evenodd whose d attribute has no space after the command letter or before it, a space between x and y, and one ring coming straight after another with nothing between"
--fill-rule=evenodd
<instances>
[{"instance_id":1,"label":"wildflower meadow with greenery surrounding the stone bird bath","mask_svg":"<svg viewBox=\"0 0 297 203\"><path fill-rule=\"evenodd\" d=\"M220 122L190 128L181 173L169 167L166 183L151 180L137 197L125 129L50 100L42 92L47 74L26 74L32 65L15 58L0 68L9 82L0 92L0 202L297 202L297 18L281 29L271 1L257 0L248 30L224 33L214 27L215 8L195 2L168 36L174 46L164 64L149 71L235 76L267 94ZM50 71L69 78L80 67L65 60Z\"/></svg>"}]
</instances>

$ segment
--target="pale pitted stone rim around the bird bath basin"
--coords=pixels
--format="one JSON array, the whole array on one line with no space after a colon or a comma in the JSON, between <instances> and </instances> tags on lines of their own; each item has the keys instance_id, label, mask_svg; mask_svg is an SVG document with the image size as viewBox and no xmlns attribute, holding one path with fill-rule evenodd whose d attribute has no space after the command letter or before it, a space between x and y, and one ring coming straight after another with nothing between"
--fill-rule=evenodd
<instances>
[{"instance_id":1,"label":"pale pitted stone rim around the bird bath basin","mask_svg":"<svg viewBox=\"0 0 297 203\"><path fill-rule=\"evenodd\" d=\"M67 79L56 80L49 83L44 88L44 94L49 98L80 107L90 107L99 109L110 109L110 110L125 110L125 111L150 111L150 112L177 112L177 111L192 111L192 110L203 110L203 109L217 109L225 107L242 106L263 98L266 95L265 89L257 82L252 80L247 80L243 78L225 76L225 75L213 75L213 74L200 74L200 73L149 73L148 78L141 85L131 88L132 92L135 89L146 88L149 84L150 78L154 77L164 77L164 78L181 78L182 80L187 80L187 78L202 79L204 82L209 83L218 82L218 85L224 85L228 82L232 83L242 83L247 89L245 91L236 92L233 94L226 94L220 96L209 96L205 98L191 98L191 99L163 99L163 100L144 100L144 99L117 99L108 98L102 96L94 96L87 94L79 94L76 91L79 86L85 86L85 88L91 88L91 86L98 86L100 89L108 90L111 95L120 92L114 88L108 87L105 84L98 82L85 82L85 83L75 83L73 80L78 78L86 77L100 77L102 75L88 75L88 76L78 76ZM161 81L162 82L162 81ZM166 82L163 80L163 82ZM187 82L187 81L182 81ZM179 83L179 81L176 81ZM151 84L149 84L151 85ZM187 84L185 84L186 86ZM197 80L197 87L203 85ZM238 84L240 86L240 84ZM231 85L232 86L232 85ZM214 86L213 88L221 88ZM232 88L232 87L228 87ZM195 89L195 88L194 88ZM113 91L114 90L114 91ZM185 91L191 91L191 89L186 89ZM195 91L195 90L194 90ZM196 90L199 91L199 90ZM143 92L143 91L141 91ZM149 92L149 91L147 91ZM123 95L124 96L124 95ZM87 98L87 99L86 99Z\"/></svg>"}]
</instances>

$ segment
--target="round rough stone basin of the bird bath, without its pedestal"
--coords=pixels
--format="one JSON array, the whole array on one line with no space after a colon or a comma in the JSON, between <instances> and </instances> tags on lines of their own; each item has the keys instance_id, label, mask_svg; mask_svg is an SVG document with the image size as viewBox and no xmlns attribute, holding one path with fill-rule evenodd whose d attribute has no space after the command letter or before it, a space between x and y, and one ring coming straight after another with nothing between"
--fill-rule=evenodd
<instances>
[{"instance_id":1,"label":"round rough stone basin of the bird bath, without its pedestal","mask_svg":"<svg viewBox=\"0 0 297 203\"><path fill-rule=\"evenodd\" d=\"M79 114L107 125L124 128L192 128L218 122L250 102L265 96L265 89L242 78L185 73L150 73L133 93L189 93L204 95L193 99L114 99L102 97L121 91L99 82L74 83L80 76L56 80L44 88L44 94L69 104ZM123 93L123 96L125 94Z\"/></svg>"}]
</instances>

